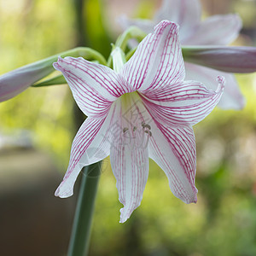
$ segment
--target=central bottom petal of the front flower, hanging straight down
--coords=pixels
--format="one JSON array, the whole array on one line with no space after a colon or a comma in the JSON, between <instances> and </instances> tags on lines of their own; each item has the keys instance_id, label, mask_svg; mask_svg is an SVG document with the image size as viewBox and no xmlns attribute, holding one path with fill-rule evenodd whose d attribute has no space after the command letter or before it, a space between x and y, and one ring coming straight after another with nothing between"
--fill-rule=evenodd
<instances>
[{"instance_id":1,"label":"central bottom petal of the front flower, hanging straight down","mask_svg":"<svg viewBox=\"0 0 256 256\"><path fill-rule=\"evenodd\" d=\"M116 122L111 127L110 162L116 177L120 222L130 218L143 199L148 179L149 114L137 92L121 96L116 102ZM146 125L147 124L147 125Z\"/></svg>"}]
</instances>

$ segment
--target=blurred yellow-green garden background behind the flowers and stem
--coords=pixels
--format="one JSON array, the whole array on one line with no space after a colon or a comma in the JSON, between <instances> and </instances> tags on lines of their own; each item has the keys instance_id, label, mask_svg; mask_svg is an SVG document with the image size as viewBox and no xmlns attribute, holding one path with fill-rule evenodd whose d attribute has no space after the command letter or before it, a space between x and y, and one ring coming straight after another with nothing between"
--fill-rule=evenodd
<instances>
[{"instance_id":1,"label":"blurred yellow-green garden background behind the flowers and stem","mask_svg":"<svg viewBox=\"0 0 256 256\"><path fill-rule=\"evenodd\" d=\"M255 1L202 1L204 16L238 13L236 44L256 46ZM0 0L0 73L77 45L108 56L121 13L150 17L160 1ZM241 111L216 108L195 125L197 204L172 195L150 162L142 205L119 224L104 160L90 255L256 255L256 74L236 76ZM30 88L0 103L0 255L65 255L78 194L55 198L81 119L67 84ZM83 118L83 116L82 116Z\"/></svg>"}]
</instances>

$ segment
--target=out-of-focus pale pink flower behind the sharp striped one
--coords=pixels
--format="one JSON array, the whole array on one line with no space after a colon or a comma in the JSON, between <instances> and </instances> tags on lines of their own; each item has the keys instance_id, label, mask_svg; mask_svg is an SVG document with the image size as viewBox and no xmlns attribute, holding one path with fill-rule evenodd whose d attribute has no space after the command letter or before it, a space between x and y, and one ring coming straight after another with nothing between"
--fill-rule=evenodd
<instances>
[{"instance_id":1,"label":"out-of-focus pale pink flower behind the sharp striped one","mask_svg":"<svg viewBox=\"0 0 256 256\"><path fill-rule=\"evenodd\" d=\"M148 33L153 31L154 26L160 20L171 20L180 26L182 45L230 44L237 38L241 30L241 19L238 15L214 15L201 21L199 0L163 0L162 6L153 20L132 20L124 15L119 18L119 24L124 29L132 25L138 26ZM230 62L232 61L230 59ZM241 109L244 107L245 100L232 73L220 72L189 62L185 62L185 69L186 79L201 81L212 90L216 89L216 76L224 76L225 91L218 106L223 109Z\"/></svg>"}]
</instances>

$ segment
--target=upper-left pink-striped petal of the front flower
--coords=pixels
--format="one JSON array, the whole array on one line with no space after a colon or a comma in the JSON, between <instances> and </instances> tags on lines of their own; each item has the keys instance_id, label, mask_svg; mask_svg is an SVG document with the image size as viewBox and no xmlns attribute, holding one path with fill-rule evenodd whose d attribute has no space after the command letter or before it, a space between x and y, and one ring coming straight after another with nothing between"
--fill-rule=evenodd
<instances>
[{"instance_id":1,"label":"upper-left pink-striped petal of the front flower","mask_svg":"<svg viewBox=\"0 0 256 256\"><path fill-rule=\"evenodd\" d=\"M129 92L124 79L112 69L83 58L59 58L55 69L63 73L79 108L87 115L103 118L111 103Z\"/></svg>"}]
</instances>

